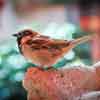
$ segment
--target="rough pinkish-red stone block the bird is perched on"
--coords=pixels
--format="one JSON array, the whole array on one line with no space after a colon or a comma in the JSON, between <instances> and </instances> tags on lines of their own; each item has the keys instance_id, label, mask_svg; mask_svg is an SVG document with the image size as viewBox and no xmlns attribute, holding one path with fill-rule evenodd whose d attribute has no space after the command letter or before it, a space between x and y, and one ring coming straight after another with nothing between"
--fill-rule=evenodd
<instances>
[{"instance_id":1,"label":"rough pinkish-red stone block the bird is perched on","mask_svg":"<svg viewBox=\"0 0 100 100\"><path fill-rule=\"evenodd\" d=\"M43 71L31 67L25 74L23 86L28 100L76 100L84 93L99 90L99 70L73 68Z\"/></svg>"}]
</instances>

